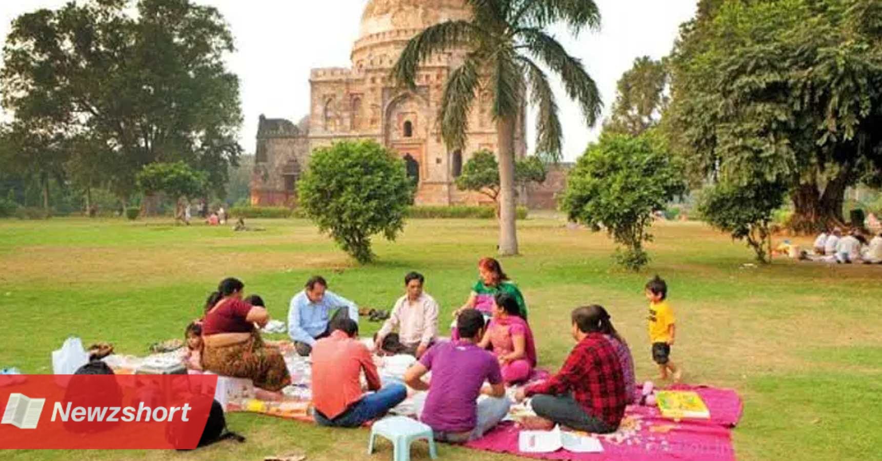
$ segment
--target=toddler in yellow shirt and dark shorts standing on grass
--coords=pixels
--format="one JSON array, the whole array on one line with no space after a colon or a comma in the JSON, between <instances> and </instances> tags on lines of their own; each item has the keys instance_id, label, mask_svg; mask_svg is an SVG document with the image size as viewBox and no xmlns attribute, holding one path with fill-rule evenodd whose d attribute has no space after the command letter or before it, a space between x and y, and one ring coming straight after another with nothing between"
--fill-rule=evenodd
<instances>
[{"instance_id":1,"label":"toddler in yellow shirt and dark shorts standing on grass","mask_svg":"<svg viewBox=\"0 0 882 461\"><path fill-rule=\"evenodd\" d=\"M670 361L670 347L674 346L676 334L674 310L668 304L668 284L659 277L649 280L646 286L647 300L649 300L649 340L653 343L653 361L658 364L661 379L674 377L674 382L679 383L683 376L683 368Z\"/></svg>"}]
</instances>

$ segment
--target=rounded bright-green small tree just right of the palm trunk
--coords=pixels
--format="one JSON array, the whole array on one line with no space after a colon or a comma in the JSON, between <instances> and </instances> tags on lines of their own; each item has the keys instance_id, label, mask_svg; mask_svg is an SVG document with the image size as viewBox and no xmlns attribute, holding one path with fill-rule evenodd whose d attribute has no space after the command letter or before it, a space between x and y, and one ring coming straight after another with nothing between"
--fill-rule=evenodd
<instances>
[{"instance_id":1,"label":"rounded bright-green small tree just right of the palm trunk","mask_svg":"<svg viewBox=\"0 0 882 461\"><path fill-rule=\"evenodd\" d=\"M562 208L594 232L606 228L619 264L632 271L649 262L643 242L655 212L686 192L683 167L650 132L638 138L603 134L567 176Z\"/></svg>"}]
</instances>

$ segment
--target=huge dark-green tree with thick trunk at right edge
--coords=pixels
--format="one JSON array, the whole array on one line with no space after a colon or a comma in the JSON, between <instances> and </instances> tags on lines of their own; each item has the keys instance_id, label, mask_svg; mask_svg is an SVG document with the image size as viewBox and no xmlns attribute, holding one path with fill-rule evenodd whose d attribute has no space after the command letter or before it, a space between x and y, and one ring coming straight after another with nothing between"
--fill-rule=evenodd
<instances>
[{"instance_id":1,"label":"huge dark-green tree with thick trunk at right edge","mask_svg":"<svg viewBox=\"0 0 882 461\"><path fill-rule=\"evenodd\" d=\"M841 224L846 188L882 167L882 5L706 5L683 31L664 124L693 173L759 171L789 185L797 230Z\"/></svg>"}]
</instances>

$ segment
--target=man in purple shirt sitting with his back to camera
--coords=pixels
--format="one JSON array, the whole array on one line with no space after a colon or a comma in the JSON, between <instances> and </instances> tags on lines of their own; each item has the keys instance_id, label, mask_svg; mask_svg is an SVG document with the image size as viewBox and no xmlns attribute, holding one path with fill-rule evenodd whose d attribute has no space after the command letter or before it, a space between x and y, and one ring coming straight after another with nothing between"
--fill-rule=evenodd
<instances>
[{"instance_id":1,"label":"man in purple shirt sitting with his back to camera","mask_svg":"<svg viewBox=\"0 0 882 461\"><path fill-rule=\"evenodd\" d=\"M477 346L484 334L484 316L467 309L456 322L460 339L438 344L407 370L405 382L415 390L429 390L420 420L440 442L479 439L508 414L511 402L499 362ZM431 370L431 383L420 379ZM490 383L484 385L484 381ZM487 397L478 402L478 397Z\"/></svg>"}]
</instances>

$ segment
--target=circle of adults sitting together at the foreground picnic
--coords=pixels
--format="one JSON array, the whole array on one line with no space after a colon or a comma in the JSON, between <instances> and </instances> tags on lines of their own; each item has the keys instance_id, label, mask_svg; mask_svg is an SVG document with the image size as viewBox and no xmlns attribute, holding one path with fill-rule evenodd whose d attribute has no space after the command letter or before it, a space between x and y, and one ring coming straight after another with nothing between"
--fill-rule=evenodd
<instances>
[{"instance_id":1,"label":"circle of adults sitting together at the foreground picnic","mask_svg":"<svg viewBox=\"0 0 882 461\"><path fill-rule=\"evenodd\" d=\"M428 391L420 419L439 441L474 440L503 420L511 405L505 386L530 381L536 346L518 287L495 259L482 259L478 270L480 279L466 304L454 312L451 340L438 336L440 309L425 293L424 277L417 272L405 276L405 294L369 341L377 353L402 359L386 362L400 371L386 370L385 376L368 344L358 338L355 302L328 290L322 277L309 279L291 299L288 335L296 353L310 356L318 424L359 427L400 405L408 387ZM268 321L259 297L243 299L241 281L223 280L206 303L201 329L196 323L188 328L191 365L250 378L256 387L281 398L279 390L291 378L279 349L260 338L258 328ZM630 349L601 306L573 309L568 323L577 345L564 367L511 397L532 398L537 416L525 421L530 428L560 423L594 433L615 431L633 401Z\"/></svg>"}]
</instances>

